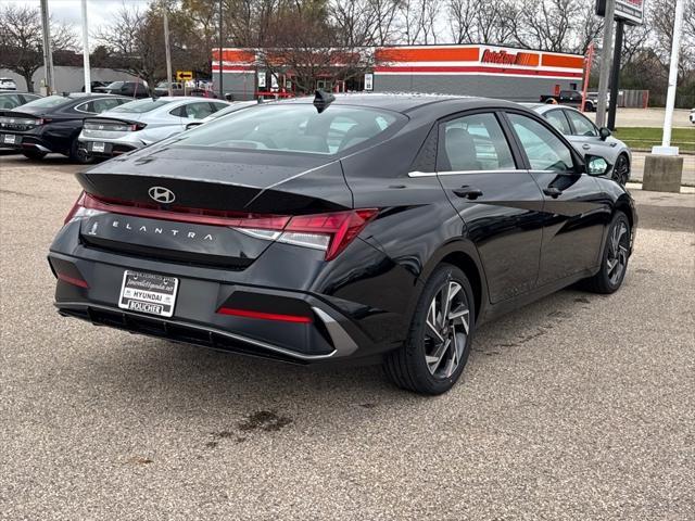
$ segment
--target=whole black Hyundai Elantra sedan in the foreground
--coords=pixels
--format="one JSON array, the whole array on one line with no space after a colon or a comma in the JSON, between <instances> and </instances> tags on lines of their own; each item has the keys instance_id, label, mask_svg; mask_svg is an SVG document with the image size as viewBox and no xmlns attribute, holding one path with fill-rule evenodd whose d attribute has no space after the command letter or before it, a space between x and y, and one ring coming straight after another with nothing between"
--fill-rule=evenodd
<instances>
[{"instance_id":1,"label":"whole black Hyundai Elantra sedan in the foreground","mask_svg":"<svg viewBox=\"0 0 695 521\"><path fill-rule=\"evenodd\" d=\"M611 293L630 194L514 103L258 104L77 175L50 249L64 316L300 364L382 363L438 394L484 320Z\"/></svg>"}]
</instances>

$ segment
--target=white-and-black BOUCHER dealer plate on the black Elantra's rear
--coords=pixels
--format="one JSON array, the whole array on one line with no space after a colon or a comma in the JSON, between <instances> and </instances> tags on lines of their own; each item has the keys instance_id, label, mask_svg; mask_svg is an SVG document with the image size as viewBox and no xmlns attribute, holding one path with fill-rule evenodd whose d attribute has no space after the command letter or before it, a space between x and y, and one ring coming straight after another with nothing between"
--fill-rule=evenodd
<instances>
[{"instance_id":1,"label":"white-and-black BOUCHER dealer plate on the black Elantra's rear","mask_svg":"<svg viewBox=\"0 0 695 521\"><path fill-rule=\"evenodd\" d=\"M123 274L118 307L160 317L174 315L178 279L126 270Z\"/></svg>"}]
</instances>

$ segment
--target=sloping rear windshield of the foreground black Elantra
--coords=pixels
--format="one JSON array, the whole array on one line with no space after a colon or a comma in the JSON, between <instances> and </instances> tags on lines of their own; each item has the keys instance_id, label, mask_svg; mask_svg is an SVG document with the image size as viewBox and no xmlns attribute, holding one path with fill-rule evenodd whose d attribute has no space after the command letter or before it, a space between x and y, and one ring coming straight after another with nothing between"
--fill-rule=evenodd
<instances>
[{"instance_id":1,"label":"sloping rear windshield of the foreground black Elantra","mask_svg":"<svg viewBox=\"0 0 695 521\"><path fill-rule=\"evenodd\" d=\"M319 114L306 104L257 105L187 132L178 145L334 154L375 139L405 116L333 105Z\"/></svg>"}]
</instances>

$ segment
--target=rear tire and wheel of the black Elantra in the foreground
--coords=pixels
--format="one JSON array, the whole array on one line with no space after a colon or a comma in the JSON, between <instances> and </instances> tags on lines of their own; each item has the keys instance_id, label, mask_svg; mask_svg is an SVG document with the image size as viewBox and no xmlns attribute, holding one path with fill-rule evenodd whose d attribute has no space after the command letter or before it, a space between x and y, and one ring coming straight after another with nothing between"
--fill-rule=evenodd
<instances>
[{"instance_id":1,"label":"rear tire and wheel of the black Elantra in the foreground","mask_svg":"<svg viewBox=\"0 0 695 521\"><path fill-rule=\"evenodd\" d=\"M389 379L420 394L452 389L468 360L475 313L466 275L450 264L440 265L422 290L405 344L383 364Z\"/></svg>"}]
</instances>

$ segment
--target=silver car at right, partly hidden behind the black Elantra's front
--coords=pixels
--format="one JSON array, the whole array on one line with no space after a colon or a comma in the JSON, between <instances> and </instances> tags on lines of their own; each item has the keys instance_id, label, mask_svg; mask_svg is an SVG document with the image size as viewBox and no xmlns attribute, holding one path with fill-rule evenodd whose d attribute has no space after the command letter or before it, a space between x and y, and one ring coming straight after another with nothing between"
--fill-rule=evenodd
<instances>
[{"instance_id":1,"label":"silver car at right, partly hidden behind the black Elantra's front","mask_svg":"<svg viewBox=\"0 0 695 521\"><path fill-rule=\"evenodd\" d=\"M527 105L545 117L582 155L598 155L611 165L606 173L615 181L624 185L630 180L632 153L626 143L611 136L607 128L598 128L581 112L570 106Z\"/></svg>"}]
</instances>

